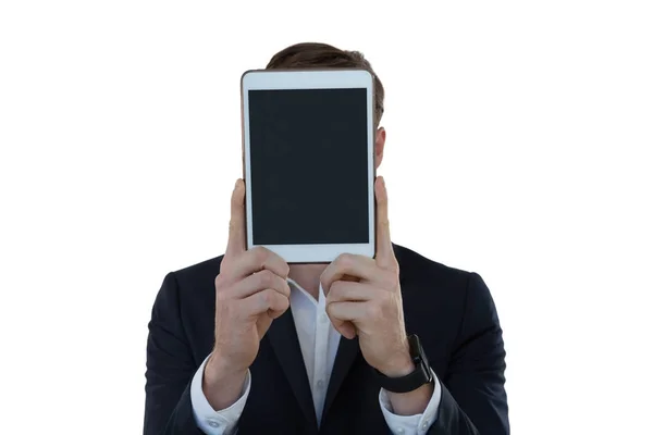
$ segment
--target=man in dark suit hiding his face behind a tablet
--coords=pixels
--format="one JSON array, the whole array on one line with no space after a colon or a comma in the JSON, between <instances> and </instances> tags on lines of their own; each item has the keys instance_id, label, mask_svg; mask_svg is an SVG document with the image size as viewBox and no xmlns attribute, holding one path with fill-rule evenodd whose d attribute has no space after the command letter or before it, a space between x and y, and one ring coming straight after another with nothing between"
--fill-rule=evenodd
<instances>
[{"instance_id":1,"label":"man in dark suit hiding his face behind a tablet","mask_svg":"<svg viewBox=\"0 0 653 435\"><path fill-rule=\"evenodd\" d=\"M300 44L268 69L362 67ZM170 273L147 344L145 434L508 434L505 351L481 277L393 245L378 177L377 254L288 265L245 249L244 195L225 254ZM420 351L421 345L421 351ZM420 371L421 369L421 371Z\"/></svg>"}]
</instances>

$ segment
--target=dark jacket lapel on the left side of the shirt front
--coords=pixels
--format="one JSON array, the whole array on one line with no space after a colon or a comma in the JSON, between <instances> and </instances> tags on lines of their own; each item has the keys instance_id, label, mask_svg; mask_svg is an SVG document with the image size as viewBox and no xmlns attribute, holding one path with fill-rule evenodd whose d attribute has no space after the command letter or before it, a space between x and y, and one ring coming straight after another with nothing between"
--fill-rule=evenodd
<instances>
[{"instance_id":1,"label":"dark jacket lapel on the left side of the shirt front","mask_svg":"<svg viewBox=\"0 0 653 435\"><path fill-rule=\"evenodd\" d=\"M291 388L295 394L299 408L301 408L306 419L317 431L318 419L316 417L312 394L310 393L306 366L304 365L304 357L301 356L301 348L299 347L299 339L297 338L295 321L293 320L291 310L286 310L281 318L275 319L272 322L266 337L268 337L272 344L274 353L291 384Z\"/></svg>"}]
</instances>

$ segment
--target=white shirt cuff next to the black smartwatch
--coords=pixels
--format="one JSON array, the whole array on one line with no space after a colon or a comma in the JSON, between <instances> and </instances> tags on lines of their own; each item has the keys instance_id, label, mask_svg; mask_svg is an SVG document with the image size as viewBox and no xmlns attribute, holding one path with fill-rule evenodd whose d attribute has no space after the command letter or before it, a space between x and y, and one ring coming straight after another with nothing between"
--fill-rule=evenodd
<instances>
[{"instance_id":1,"label":"white shirt cuff next to the black smartwatch","mask_svg":"<svg viewBox=\"0 0 653 435\"><path fill-rule=\"evenodd\" d=\"M379 403L381 411L385 418L385 423L394 435L424 435L429 427L438 420L438 410L440 408L440 399L442 398L442 386L440 380L435 376L433 370L433 396L427 405L427 409L421 414L415 415L397 415L393 413L392 403L387 397L387 391L381 388L379 393Z\"/></svg>"}]
</instances>

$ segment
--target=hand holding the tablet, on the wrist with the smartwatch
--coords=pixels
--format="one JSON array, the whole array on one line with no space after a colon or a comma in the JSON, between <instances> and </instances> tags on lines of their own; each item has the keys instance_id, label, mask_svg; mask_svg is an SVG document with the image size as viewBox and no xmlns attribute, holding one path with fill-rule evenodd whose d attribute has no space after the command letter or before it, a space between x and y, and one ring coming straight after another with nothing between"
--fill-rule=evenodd
<instances>
[{"instance_id":1,"label":"hand holding the tablet, on the wrist with the smartwatch","mask_svg":"<svg viewBox=\"0 0 653 435\"><path fill-rule=\"evenodd\" d=\"M338 256L322 273L326 313L345 337L358 335L368 364L386 376L406 375L415 365L404 325L399 265L390 240L387 190L383 177L377 196L377 256Z\"/></svg>"}]
</instances>

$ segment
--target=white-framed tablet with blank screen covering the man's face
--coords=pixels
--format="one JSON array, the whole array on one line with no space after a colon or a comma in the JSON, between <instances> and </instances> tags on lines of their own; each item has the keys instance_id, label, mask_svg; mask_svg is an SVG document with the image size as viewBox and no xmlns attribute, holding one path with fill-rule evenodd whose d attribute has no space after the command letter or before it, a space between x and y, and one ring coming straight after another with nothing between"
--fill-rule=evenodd
<instances>
[{"instance_id":1,"label":"white-framed tablet with blank screen covering the man's face","mask_svg":"<svg viewBox=\"0 0 653 435\"><path fill-rule=\"evenodd\" d=\"M288 263L374 257L372 75L248 71L241 88L247 249Z\"/></svg>"}]
</instances>

